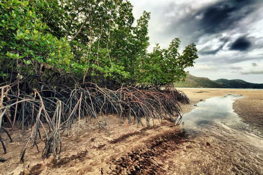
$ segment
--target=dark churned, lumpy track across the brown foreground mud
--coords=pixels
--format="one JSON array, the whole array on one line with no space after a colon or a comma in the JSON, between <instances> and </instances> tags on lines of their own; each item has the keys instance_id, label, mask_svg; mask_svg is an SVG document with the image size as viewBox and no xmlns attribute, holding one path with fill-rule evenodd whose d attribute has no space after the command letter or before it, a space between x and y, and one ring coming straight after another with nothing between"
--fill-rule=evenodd
<instances>
[{"instance_id":1,"label":"dark churned, lumpy track across the brown foreground mud","mask_svg":"<svg viewBox=\"0 0 263 175\"><path fill-rule=\"evenodd\" d=\"M164 164L161 162L166 159L166 153L179 149L179 145L187 141L188 137L184 131L172 130L157 135L121 158L112 159L112 165L115 165L113 174L165 174Z\"/></svg>"}]
</instances>

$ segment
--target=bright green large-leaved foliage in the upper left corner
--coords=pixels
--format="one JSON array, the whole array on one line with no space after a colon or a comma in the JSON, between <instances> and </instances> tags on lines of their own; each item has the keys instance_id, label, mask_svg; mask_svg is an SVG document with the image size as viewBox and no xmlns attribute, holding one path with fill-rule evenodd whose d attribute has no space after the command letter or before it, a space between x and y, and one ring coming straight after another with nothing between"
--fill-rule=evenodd
<instances>
[{"instance_id":1,"label":"bright green large-leaved foliage in the upper left corner","mask_svg":"<svg viewBox=\"0 0 263 175\"><path fill-rule=\"evenodd\" d=\"M72 58L69 43L45 32L48 26L28 1L1 1L0 11L1 64L13 66L14 60L27 67L47 63L68 70Z\"/></svg>"}]
</instances>

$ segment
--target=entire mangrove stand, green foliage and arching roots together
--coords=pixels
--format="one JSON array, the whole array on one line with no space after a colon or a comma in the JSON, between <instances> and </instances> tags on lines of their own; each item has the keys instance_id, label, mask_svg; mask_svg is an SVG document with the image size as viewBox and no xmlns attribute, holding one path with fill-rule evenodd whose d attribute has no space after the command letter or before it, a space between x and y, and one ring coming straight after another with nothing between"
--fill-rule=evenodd
<instances>
[{"instance_id":1,"label":"entire mangrove stand, green foliage and arching roots together","mask_svg":"<svg viewBox=\"0 0 263 175\"><path fill-rule=\"evenodd\" d=\"M81 118L96 118L108 134L107 114L120 124L180 122L177 102L188 98L167 86L193 66L195 44L179 53L175 38L148 53L150 13L133 26L132 8L127 0L0 0L0 129L31 129L21 161L42 134L43 156L57 157L60 130L69 135Z\"/></svg>"}]
</instances>

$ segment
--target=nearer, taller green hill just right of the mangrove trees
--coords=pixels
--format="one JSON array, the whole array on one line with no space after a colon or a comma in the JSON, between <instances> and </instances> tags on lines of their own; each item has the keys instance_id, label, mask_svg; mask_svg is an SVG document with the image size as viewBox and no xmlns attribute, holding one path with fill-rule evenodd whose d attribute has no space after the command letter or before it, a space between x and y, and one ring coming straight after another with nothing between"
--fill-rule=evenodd
<instances>
[{"instance_id":1,"label":"nearer, taller green hill just right of the mangrove trees","mask_svg":"<svg viewBox=\"0 0 263 175\"><path fill-rule=\"evenodd\" d=\"M207 88L221 88L222 86L209 78L196 77L188 73L186 80L175 83L176 87L207 87Z\"/></svg>"}]
</instances>

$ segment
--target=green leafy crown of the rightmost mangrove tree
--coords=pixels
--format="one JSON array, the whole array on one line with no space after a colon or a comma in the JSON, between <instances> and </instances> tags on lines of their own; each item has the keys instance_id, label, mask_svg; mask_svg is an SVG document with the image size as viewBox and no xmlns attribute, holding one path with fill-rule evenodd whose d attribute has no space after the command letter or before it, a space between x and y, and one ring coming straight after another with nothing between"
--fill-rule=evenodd
<instances>
[{"instance_id":1,"label":"green leafy crown of the rightmost mangrove tree","mask_svg":"<svg viewBox=\"0 0 263 175\"><path fill-rule=\"evenodd\" d=\"M140 80L159 87L185 77L187 72L184 69L193 66L193 60L198 58L197 49L190 44L180 55L180 42L179 38L173 39L168 49L160 49L157 44L142 64Z\"/></svg>"}]
</instances>

